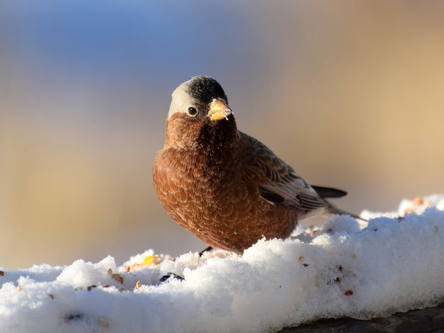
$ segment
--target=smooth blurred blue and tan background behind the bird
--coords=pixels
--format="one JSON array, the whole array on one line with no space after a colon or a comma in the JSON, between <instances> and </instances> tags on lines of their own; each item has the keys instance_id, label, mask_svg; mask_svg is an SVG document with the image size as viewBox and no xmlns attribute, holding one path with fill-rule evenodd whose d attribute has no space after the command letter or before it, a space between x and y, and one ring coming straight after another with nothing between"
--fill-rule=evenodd
<instances>
[{"instance_id":1,"label":"smooth blurred blue and tan background behind the bird","mask_svg":"<svg viewBox=\"0 0 444 333\"><path fill-rule=\"evenodd\" d=\"M443 1L0 2L0 266L205 244L153 191L170 94L215 77L244 132L341 208L444 192Z\"/></svg>"}]
</instances>

